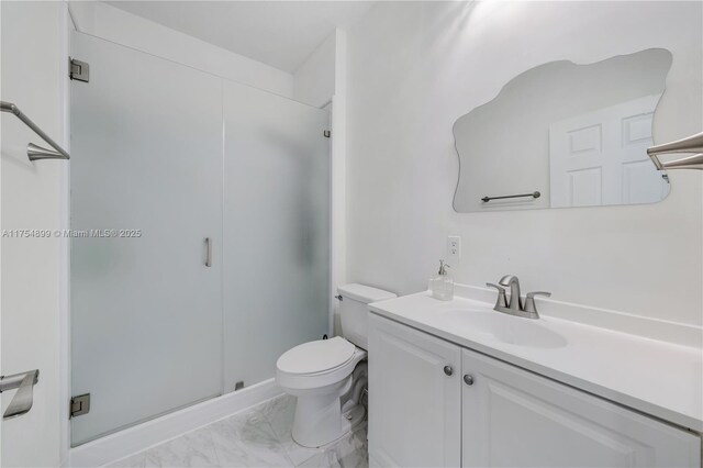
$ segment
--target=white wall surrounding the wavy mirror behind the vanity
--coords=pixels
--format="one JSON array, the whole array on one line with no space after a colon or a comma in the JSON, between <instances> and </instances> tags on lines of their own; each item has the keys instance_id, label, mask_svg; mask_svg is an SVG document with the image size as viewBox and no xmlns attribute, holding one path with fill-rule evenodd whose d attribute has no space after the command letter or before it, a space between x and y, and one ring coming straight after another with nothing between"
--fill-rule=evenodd
<instances>
[{"instance_id":1,"label":"white wall surrounding the wavy mirror behind the vanity","mask_svg":"<svg viewBox=\"0 0 703 468\"><path fill-rule=\"evenodd\" d=\"M574 23L578 21L578 24ZM640 207L459 214L451 125L512 77L555 59L673 53L655 141L701 130L701 3L379 2L348 32L348 280L426 288L461 235L460 282L701 325L701 177Z\"/></svg>"}]
</instances>

